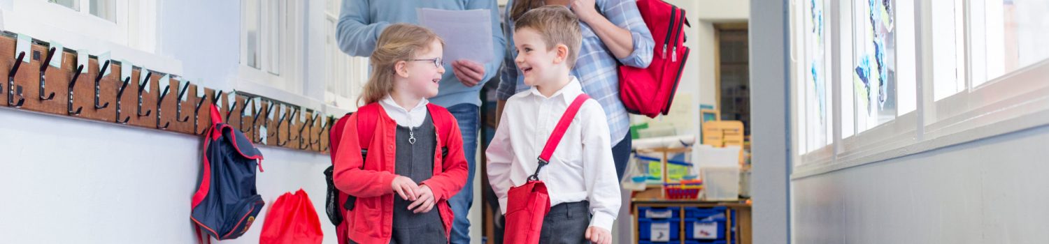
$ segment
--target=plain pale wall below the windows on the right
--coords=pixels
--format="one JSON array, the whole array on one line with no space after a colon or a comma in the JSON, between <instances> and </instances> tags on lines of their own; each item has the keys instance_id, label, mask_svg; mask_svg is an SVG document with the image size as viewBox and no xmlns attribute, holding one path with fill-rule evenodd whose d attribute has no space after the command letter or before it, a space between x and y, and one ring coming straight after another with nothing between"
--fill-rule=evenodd
<instances>
[{"instance_id":1,"label":"plain pale wall below the windows on the right","mask_svg":"<svg viewBox=\"0 0 1049 244\"><path fill-rule=\"evenodd\" d=\"M1049 127L793 180L796 243L1049 243Z\"/></svg>"}]
</instances>

